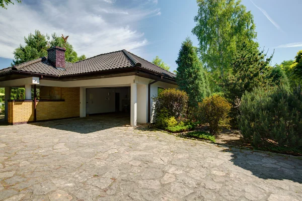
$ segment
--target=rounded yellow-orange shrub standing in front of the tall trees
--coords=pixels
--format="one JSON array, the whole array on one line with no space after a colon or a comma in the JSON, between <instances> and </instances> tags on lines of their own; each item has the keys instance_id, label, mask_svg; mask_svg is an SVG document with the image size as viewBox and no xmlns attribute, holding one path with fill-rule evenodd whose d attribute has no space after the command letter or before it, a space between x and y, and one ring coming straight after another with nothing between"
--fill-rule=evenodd
<instances>
[{"instance_id":1,"label":"rounded yellow-orange shrub standing in front of the tall trees","mask_svg":"<svg viewBox=\"0 0 302 201\"><path fill-rule=\"evenodd\" d=\"M212 135L217 135L221 127L230 128L230 110L231 104L217 94L204 98L199 104L201 122L209 125Z\"/></svg>"}]
</instances>

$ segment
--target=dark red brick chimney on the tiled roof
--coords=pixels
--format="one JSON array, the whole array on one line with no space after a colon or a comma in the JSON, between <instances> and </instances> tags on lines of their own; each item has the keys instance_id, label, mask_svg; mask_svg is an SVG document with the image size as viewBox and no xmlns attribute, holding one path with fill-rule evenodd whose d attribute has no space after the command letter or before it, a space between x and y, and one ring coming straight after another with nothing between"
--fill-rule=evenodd
<instances>
[{"instance_id":1,"label":"dark red brick chimney on the tiled roof","mask_svg":"<svg viewBox=\"0 0 302 201\"><path fill-rule=\"evenodd\" d=\"M47 50L47 60L56 68L65 68L65 49L62 47L52 47Z\"/></svg>"}]
</instances>

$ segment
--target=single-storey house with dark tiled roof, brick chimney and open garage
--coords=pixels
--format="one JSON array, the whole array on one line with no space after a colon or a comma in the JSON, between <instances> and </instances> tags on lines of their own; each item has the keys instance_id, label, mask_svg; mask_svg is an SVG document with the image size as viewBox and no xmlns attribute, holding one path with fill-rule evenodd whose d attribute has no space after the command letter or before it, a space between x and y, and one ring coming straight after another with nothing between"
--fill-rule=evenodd
<instances>
[{"instance_id":1,"label":"single-storey house with dark tiled roof, brick chimney and open garage","mask_svg":"<svg viewBox=\"0 0 302 201\"><path fill-rule=\"evenodd\" d=\"M152 122L159 88L175 88L175 74L126 50L76 63L65 49L52 47L41 57L0 70L9 124L129 112L131 126ZM25 87L25 100L12 100L11 87ZM32 98L33 97L33 98Z\"/></svg>"}]
</instances>

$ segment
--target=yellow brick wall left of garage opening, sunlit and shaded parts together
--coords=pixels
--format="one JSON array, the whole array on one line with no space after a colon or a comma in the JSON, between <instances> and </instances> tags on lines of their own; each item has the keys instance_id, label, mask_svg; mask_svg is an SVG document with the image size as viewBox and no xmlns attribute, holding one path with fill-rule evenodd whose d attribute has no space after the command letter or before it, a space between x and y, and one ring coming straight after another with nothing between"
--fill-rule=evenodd
<instances>
[{"instance_id":1,"label":"yellow brick wall left of garage opening, sunlit and shaded parts together","mask_svg":"<svg viewBox=\"0 0 302 201\"><path fill-rule=\"evenodd\" d=\"M80 116L80 88L61 88L61 91L64 102L37 102L37 121ZM9 102L8 121L11 124L34 121L34 103Z\"/></svg>"}]
</instances>

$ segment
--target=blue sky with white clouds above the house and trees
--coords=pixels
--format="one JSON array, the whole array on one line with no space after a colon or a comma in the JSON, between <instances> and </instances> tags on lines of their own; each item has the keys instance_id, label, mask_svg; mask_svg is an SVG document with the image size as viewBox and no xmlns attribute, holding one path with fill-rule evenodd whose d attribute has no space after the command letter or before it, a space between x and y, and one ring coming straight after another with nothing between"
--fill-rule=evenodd
<instances>
[{"instance_id":1,"label":"blue sky with white clouds above the house and trees","mask_svg":"<svg viewBox=\"0 0 302 201\"><path fill-rule=\"evenodd\" d=\"M293 59L302 49L300 0L242 0L254 15L257 41L275 49L272 65ZM78 54L88 57L127 49L151 61L159 56L177 68L181 42L190 36L197 14L194 0L82 0L34 1L0 10L0 69L10 66L12 52L35 29L43 34L69 35Z\"/></svg>"}]
</instances>

